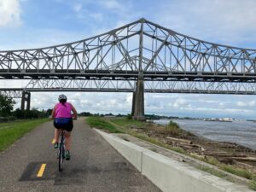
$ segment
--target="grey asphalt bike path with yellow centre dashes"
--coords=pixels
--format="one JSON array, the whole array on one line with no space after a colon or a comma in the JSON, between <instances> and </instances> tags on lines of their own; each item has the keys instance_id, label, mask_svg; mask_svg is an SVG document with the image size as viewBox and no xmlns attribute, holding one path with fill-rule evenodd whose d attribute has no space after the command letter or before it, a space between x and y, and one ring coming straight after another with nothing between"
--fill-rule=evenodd
<instances>
[{"instance_id":1,"label":"grey asphalt bike path with yellow centre dashes","mask_svg":"<svg viewBox=\"0 0 256 192\"><path fill-rule=\"evenodd\" d=\"M71 160L58 171L52 122L38 126L0 154L0 191L160 192L96 131L74 121ZM37 177L46 164L43 177Z\"/></svg>"}]
</instances>

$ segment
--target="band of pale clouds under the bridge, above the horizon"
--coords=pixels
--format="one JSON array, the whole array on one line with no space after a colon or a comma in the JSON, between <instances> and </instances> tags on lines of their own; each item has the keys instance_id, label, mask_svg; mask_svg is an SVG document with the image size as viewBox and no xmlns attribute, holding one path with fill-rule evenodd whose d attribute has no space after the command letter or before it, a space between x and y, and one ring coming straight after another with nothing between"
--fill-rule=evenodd
<instances>
[{"instance_id":1,"label":"band of pale clouds under the bridge, above the horizon","mask_svg":"<svg viewBox=\"0 0 256 192\"><path fill-rule=\"evenodd\" d=\"M32 92L32 108L53 108L57 97L62 92ZM132 93L107 93L107 92L64 92L68 101L72 102L80 112L90 113L131 113ZM161 96L161 97L158 97ZM191 97L192 96L192 97ZM193 97L194 96L194 97ZM195 97L197 96L197 97ZM201 98L204 97L202 101ZM245 96L249 102L237 106L239 96L222 97L214 95L183 95L183 94L145 94L145 113L166 114L172 116L189 117L235 117L253 119L255 102L250 96ZM214 101L221 100L220 105ZM20 99L15 108L20 108ZM211 102L205 102L211 101ZM247 105L246 105L247 104Z\"/></svg>"}]
</instances>

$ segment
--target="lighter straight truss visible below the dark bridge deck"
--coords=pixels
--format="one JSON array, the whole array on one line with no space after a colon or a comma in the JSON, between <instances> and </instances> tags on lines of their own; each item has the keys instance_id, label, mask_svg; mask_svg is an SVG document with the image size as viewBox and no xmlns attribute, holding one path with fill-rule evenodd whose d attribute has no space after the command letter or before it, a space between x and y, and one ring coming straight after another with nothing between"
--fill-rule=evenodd
<instances>
[{"instance_id":1,"label":"lighter straight truss visible below the dark bridge deck","mask_svg":"<svg viewBox=\"0 0 256 192\"><path fill-rule=\"evenodd\" d=\"M135 92L136 84L137 82L133 80L37 79L31 80L23 89L0 89L0 94L21 98L22 91ZM148 93L256 95L256 84L204 81L144 81L144 91Z\"/></svg>"}]
</instances>

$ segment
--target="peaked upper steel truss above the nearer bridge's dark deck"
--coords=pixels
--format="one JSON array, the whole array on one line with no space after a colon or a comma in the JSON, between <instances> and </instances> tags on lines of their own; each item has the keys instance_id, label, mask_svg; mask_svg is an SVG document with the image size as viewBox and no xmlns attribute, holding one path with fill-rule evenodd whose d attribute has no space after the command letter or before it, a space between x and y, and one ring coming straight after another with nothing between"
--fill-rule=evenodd
<instances>
[{"instance_id":1,"label":"peaked upper steel truss above the nearer bridge's dark deck","mask_svg":"<svg viewBox=\"0 0 256 192\"><path fill-rule=\"evenodd\" d=\"M256 50L190 38L148 20L70 44L0 51L3 79L256 79Z\"/></svg>"}]
</instances>

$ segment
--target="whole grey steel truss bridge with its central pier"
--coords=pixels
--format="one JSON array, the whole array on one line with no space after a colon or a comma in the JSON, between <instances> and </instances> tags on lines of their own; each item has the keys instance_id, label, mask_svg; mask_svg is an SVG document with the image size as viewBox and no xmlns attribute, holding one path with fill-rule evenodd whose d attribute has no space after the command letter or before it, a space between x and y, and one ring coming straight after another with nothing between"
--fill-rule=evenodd
<instances>
[{"instance_id":1,"label":"whole grey steel truss bridge with its central pier","mask_svg":"<svg viewBox=\"0 0 256 192\"><path fill-rule=\"evenodd\" d=\"M256 49L212 44L141 19L69 44L0 51L0 78L30 79L26 87L0 89L13 97L134 92L134 115L143 116L144 91L255 95Z\"/></svg>"}]
</instances>

